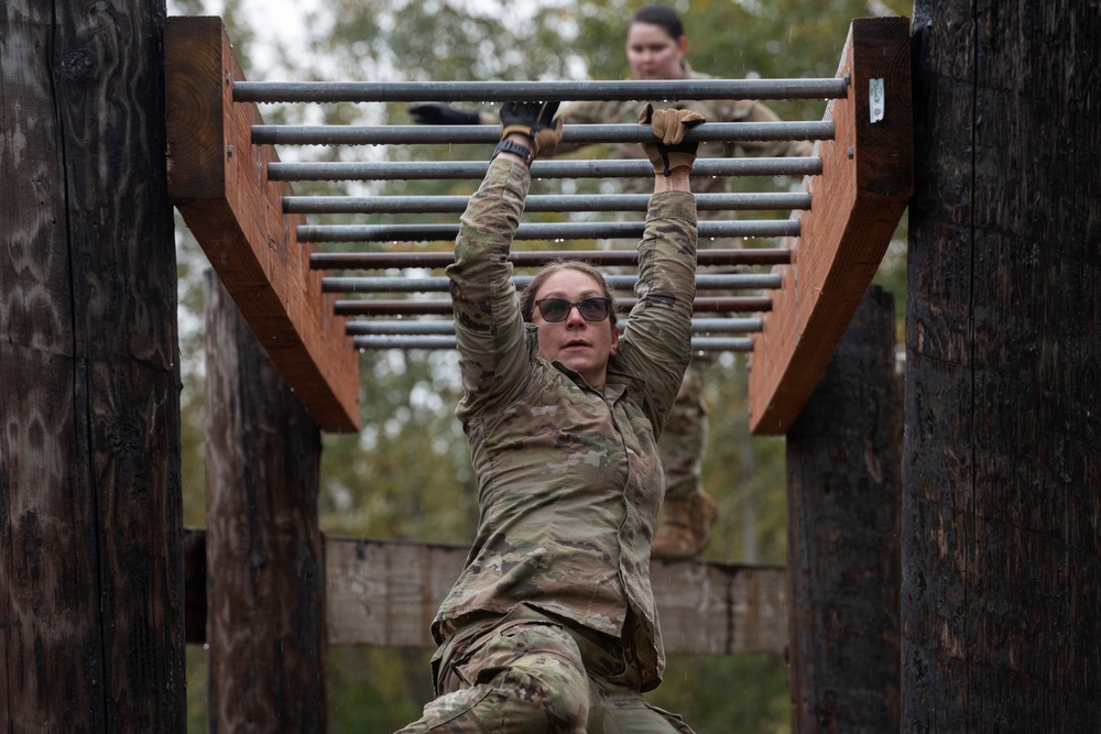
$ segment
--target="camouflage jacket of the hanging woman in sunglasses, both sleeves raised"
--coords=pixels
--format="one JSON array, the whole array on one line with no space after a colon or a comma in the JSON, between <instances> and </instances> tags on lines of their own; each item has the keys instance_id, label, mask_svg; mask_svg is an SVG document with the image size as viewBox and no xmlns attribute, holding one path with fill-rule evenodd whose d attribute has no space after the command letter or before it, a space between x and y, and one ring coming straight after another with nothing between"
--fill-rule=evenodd
<instances>
[{"instance_id":1,"label":"camouflage jacket of the hanging woman in sunglasses, both sleeves raised","mask_svg":"<svg viewBox=\"0 0 1101 734\"><path fill-rule=\"evenodd\" d=\"M537 355L509 250L531 183L491 165L460 220L451 280L464 381L456 409L470 441L480 518L473 547L433 635L526 603L622 639L643 690L665 666L650 585L650 545L664 493L656 440L688 364L696 207L654 195L639 244L639 305L590 387Z\"/></svg>"}]
</instances>

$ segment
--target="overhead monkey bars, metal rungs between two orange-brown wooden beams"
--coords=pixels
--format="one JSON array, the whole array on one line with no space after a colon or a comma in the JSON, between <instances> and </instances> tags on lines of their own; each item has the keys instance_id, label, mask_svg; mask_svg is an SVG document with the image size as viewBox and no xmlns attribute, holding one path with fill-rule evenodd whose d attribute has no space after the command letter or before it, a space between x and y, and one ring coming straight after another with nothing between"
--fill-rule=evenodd
<instances>
[{"instance_id":1,"label":"overhead monkey bars, metal rungs between two orange-brown wooden beams","mask_svg":"<svg viewBox=\"0 0 1101 734\"><path fill-rule=\"evenodd\" d=\"M887 21L887 22L884 22ZM697 298L697 311L757 314L752 338L697 336L699 349L750 353L751 428L781 434L798 415L871 282L912 187L909 34L904 19L854 21L832 79L614 83L255 83L246 81L219 19L170 19L166 33L170 195L195 232L246 319L288 384L326 430L358 427L357 349L439 348L449 337L408 331L349 336L353 315L438 315L447 300L337 300L337 293L439 291L444 278L410 278L392 269L446 265L440 254L408 253L407 244L449 241L457 224L305 223L304 216L455 213L465 197L301 196L292 180L477 179L487 163L281 163L274 145L483 144L497 125L270 125L258 103L501 101L506 99L793 99L828 98L821 121L711 122L694 129L700 142L813 140L806 158L707 158L697 174L803 175L802 191L698 197L701 211L781 211L778 219L699 222L711 238L782 238L782 258L722 255L705 262L737 267L765 264L772 273L700 274L701 289L752 288L745 297ZM567 124L567 143L650 140L645 125ZM537 161L533 177L591 178L652 175L645 161ZM528 213L640 211L648 197L542 196ZM635 221L525 221L519 242L636 239ZM323 252L331 243L401 242L401 252ZM394 248L384 248L391 250ZM581 258L591 251L564 251ZM722 252L721 250L718 252ZM517 265L528 253L516 252ZM424 262L410 260L423 255ZM537 258L535 253L531 256ZM626 255L630 261L630 255ZM611 262L609 254L601 262ZM323 275L321 270L383 270L378 277ZM710 278L710 280L709 280ZM522 278L517 278L522 281ZM446 283L445 283L446 285ZM629 283L624 283L624 286ZM446 288L445 288L446 289ZM624 306L631 304L624 299ZM413 320L410 321L411 324Z\"/></svg>"}]
</instances>

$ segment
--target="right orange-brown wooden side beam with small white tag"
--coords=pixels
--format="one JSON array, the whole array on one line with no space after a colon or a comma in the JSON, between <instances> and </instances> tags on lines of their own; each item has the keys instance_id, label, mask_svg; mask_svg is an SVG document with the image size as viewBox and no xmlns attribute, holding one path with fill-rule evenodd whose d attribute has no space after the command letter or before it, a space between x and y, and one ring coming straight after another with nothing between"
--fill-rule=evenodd
<instances>
[{"instance_id":1,"label":"right orange-brown wooden side beam with small white tag","mask_svg":"<svg viewBox=\"0 0 1101 734\"><path fill-rule=\"evenodd\" d=\"M804 179L811 195L792 263L750 355L750 429L783 434L803 409L879 269L913 190L909 20L858 19L838 76L849 95L831 100L835 139L816 144L822 173ZM883 96L871 102L874 80ZM873 121L873 108L882 119Z\"/></svg>"}]
</instances>

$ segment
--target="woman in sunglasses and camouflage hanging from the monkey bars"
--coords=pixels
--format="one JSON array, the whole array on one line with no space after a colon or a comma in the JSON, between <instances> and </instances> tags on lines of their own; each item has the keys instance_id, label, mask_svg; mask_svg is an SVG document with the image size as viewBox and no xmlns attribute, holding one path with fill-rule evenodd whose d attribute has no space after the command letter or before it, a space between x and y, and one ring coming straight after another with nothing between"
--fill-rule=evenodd
<instances>
[{"instance_id":1,"label":"woman in sunglasses and camouflage hanging from the monkey bars","mask_svg":"<svg viewBox=\"0 0 1101 734\"><path fill-rule=\"evenodd\" d=\"M432 625L437 698L415 732L689 733L650 706L665 655L650 585L664 494L657 438L689 361L704 121L646 106L654 164L630 327L603 275L538 271L517 299L509 251L528 166L562 138L558 102L508 102L501 142L448 266L480 518Z\"/></svg>"}]
</instances>

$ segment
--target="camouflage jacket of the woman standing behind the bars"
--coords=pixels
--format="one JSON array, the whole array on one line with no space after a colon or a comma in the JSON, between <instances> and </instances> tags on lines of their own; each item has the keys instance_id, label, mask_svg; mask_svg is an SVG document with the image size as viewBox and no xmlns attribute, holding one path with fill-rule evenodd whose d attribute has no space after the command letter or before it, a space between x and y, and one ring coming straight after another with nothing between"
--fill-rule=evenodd
<instances>
[{"instance_id":1,"label":"camouflage jacket of the woman standing behind the bars","mask_svg":"<svg viewBox=\"0 0 1101 734\"><path fill-rule=\"evenodd\" d=\"M711 76L694 72L685 64L685 70L691 79L710 79ZM752 99L700 99L671 103L655 100L654 109L676 108L690 109L702 114L708 122L776 122L780 117L765 105ZM634 100L593 100L573 102L563 108L562 118L565 124L630 124L639 121L639 112L646 102ZM559 144L555 154L560 155L578 145ZM609 146L611 158L641 158L644 156L642 146L637 143L614 143ZM704 143L699 146L700 157L732 158L737 154L755 157L783 157L809 155L813 146L807 141L743 141L728 143ZM651 186L650 178L624 178L624 193L644 193ZM701 176L693 179L693 188L698 193L721 194L728 190L728 179L716 176ZM724 213L701 211L701 218L726 218Z\"/></svg>"}]
</instances>

